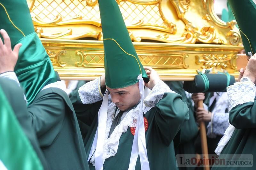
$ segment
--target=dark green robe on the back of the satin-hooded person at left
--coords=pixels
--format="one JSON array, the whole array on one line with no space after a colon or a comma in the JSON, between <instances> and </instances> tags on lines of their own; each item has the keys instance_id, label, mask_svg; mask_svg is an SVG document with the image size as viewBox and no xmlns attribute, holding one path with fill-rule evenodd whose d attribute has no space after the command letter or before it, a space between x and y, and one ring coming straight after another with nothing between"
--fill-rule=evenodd
<instances>
[{"instance_id":1,"label":"dark green robe on the back of the satin-hooded person at left","mask_svg":"<svg viewBox=\"0 0 256 170\"><path fill-rule=\"evenodd\" d=\"M49 169L89 169L74 108L63 90L41 90L25 113Z\"/></svg>"}]
</instances>

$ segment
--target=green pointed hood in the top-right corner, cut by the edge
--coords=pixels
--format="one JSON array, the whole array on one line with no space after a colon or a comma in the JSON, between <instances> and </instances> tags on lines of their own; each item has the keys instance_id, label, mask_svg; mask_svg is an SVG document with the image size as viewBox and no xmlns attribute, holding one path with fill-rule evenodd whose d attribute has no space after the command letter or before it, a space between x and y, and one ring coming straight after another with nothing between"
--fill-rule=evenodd
<instances>
[{"instance_id":1,"label":"green pointed hood in the top-right corner, cut by the edge","mask_svg":"<svg viewBox=\"0 0 256 170\"><path fill-rule=\"evenodd\" d=\"M228 0L238 24L246 55L256 53L256 5L252 0Z\"/></svg>"}]
</instances>

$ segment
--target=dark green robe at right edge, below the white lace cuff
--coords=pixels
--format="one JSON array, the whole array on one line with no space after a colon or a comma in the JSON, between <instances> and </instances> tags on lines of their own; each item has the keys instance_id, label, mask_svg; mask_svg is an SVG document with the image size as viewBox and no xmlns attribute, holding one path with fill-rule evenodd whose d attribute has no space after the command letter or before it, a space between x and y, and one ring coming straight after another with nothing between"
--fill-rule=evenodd
<instances>
[{"instance_id":1,"label":"dark green robe at right edge, below the white lace cuff","mask_svg":"<svg viewBox=\"0 0 256 170\"><path fill-rule=\"evenodd\" d=\"M217 167L213 166L212 170L240 170L255 169L256 163L256 98L254 102L247 102L233 107L229 111L229 122L236 129L225 145L219 158L230 158L226 154L252 154L253 167Z\"/></svg>"}]
</instances>

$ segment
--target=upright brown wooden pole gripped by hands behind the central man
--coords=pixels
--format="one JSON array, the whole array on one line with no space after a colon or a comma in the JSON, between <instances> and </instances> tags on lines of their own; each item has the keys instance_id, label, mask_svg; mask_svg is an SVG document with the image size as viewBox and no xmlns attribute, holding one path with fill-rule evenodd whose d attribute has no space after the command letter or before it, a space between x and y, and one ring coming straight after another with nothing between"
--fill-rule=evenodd
<instances>
[{"instance_id":1,"label":"upright brown wooden pole gripped by hands behind the central man","mask_svg":"<svg viewBox=\"0 0 256 170\"><path fill-rule=\"evenodd\" d=\"M204 108L203 100L198 101L198 107ZM203 121L199 122L199 127L200 127L202 153L205 156L205 160L208 160L209 155L208 155L208 146L207 146L207 138L206 138L206 129ZM204 170L210 170L210 166L204 165Z\"/></svg>"}]
</instances>

